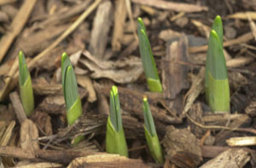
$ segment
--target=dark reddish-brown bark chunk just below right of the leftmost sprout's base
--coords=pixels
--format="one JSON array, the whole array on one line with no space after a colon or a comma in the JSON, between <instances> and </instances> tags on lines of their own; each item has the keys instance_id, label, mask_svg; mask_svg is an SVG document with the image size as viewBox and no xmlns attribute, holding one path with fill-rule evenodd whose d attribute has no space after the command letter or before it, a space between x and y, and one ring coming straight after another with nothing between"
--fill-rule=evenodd
<instances>
[{"instance_id":1,"label":"dark reddish-brown bark chunk just below right of the leftmost sprout's base","mask_svg":"<svg viewBox=\"0 0 256 168\"><path fill-rule=\"evenodd\" d=\"M50 117L47 113L36 111L35 113L32 113L31 119L38 126L44 136L52 135Z\"/></svg>"}]
</instances>

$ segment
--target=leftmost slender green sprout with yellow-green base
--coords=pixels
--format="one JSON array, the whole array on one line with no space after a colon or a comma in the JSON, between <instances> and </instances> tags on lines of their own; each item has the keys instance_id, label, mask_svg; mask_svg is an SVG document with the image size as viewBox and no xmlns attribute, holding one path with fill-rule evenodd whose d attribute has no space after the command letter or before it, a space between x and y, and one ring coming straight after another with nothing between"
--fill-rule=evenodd
<instances>
[{"instance_id":1,"label":"leftmost slender green sprout with yellow-green base","mask_svg":"<svg viewBox=\"0 0 256 168\"><path fill-rule=\"evenodd\" d=\"M19 85L22 106L24 107L26 116L30 116L35 107L34 96L31 76L26 67L26 60L22 51L19 52Z\"/></svg>"}]
</instances>

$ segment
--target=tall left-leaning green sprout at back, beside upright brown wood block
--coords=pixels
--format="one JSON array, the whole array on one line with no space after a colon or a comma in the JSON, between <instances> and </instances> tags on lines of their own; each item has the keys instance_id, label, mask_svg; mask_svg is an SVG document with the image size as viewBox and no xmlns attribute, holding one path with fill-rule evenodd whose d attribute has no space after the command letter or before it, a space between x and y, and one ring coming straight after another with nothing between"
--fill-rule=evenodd
<instances>
[{"instance_id":1,"label":"tall left-leaning green sprout at back, beside upright brown wood block","mask_svg":"<svg viewBox=\"0 0 256 168\"><path fill-rule=\"evenodd\" d=\"M137 19L137 33L139 38L139 49L143 60L143 69L147 78L150 91L162 92L162 84L155 67L154 56L148 40L146 28L141 18Z\"/></svg>"}]
</instances>

